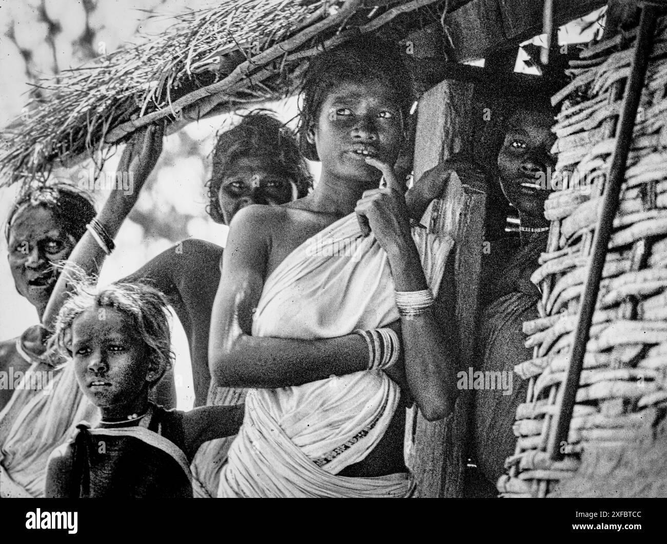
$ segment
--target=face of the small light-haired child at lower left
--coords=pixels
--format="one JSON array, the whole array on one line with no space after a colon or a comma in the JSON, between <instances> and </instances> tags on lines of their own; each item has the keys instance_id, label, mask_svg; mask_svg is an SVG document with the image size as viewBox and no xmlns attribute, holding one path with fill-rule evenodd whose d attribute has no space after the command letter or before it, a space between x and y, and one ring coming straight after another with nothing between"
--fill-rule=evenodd
<instances>
[{"instance_id":1,"label":"face of the small light-haired child at lower left","mask_svg":"<svg viewBox=\"0 0 667 544\"><path fill-rule=\"evenodd\" d=\"M129 316L113 308L89 308L74 320L71 341L79 387L103 416L117 411L124 417L141 409L154 376Z\"/></svg>"}]
</instances>

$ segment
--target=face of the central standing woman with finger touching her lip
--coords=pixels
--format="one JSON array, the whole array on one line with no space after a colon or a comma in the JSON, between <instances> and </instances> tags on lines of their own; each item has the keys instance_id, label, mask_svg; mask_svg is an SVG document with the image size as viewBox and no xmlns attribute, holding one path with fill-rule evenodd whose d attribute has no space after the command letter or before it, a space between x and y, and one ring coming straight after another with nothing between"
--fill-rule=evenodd
<instances>
[{"instance_id":1,"label":"face of the central standing woman with finger touching her lip","mask_svg":"<svg viewBox=\"0 0 667 544\"><path fill-rule=\"evenodd\" d=\"M403 144L403 120L390 89L377 81L334 87L308 133L322 163L322 178L376 184L382 175L364 158L394 166Z\"/></svg>"}]
</instances>

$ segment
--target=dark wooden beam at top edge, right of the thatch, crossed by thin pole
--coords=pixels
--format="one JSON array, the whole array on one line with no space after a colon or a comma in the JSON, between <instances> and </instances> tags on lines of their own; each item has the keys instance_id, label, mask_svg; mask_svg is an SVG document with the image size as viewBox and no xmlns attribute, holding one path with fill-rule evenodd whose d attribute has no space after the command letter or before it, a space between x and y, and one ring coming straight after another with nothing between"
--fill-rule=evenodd
<instances>
[{"instance_id":1,"label":"dark wooden beam at top edge, right of the thatch, crossed by thin pole","mask_svg":"<svg viewBox=\"0 0 667 544\"><path fill-rule=\"evenodd\" d=\"M587 15L606 5L605 0L560 0L556 25ZM444 17L454 47L450 61L483 59L491 51L517 47L542 33L541 0L472 0Z\"/></svg>"}]
</instances>

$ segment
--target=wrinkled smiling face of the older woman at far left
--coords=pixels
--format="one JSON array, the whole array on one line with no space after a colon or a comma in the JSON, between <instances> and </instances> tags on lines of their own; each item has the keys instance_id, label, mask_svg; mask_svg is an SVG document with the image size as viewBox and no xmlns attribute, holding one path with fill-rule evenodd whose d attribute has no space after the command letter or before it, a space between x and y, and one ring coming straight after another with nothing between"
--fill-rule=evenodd
<instances>
[{"instance_id":1,"label":"wrinkled smiling face of the older woman at far left","mask_svg":"<svg viewBox=\"0 0 667 544\"><path fill-rule=\"evenodd\" d=\"M45 206L28 205L9 230L8 260L16 290L41 315L58 279L55 263L69 258L76 240Z\"/></svg>"}]
</instances>

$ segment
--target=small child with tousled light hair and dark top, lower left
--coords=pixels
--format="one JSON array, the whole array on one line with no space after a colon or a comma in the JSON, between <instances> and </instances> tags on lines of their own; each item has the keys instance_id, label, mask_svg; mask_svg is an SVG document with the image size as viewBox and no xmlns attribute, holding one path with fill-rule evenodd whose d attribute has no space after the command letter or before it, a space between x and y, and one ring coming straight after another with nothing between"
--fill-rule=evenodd
<instances>
[{"instance_id":1,"label":"small child with tousled light hair and dark top, lower left","mask_svg":"<svg viewBox=\"0 0 667 544\"><path fill-rule=\"evenodd\" d=\"M49 457L47 497L191 497L199 446L237 433L242 406L182 412L148 400L171 364L167 305L142 284L81 284L62 308L56 340L79 388L101 411L99 426Z\"/></svg>"}]
</instances>

